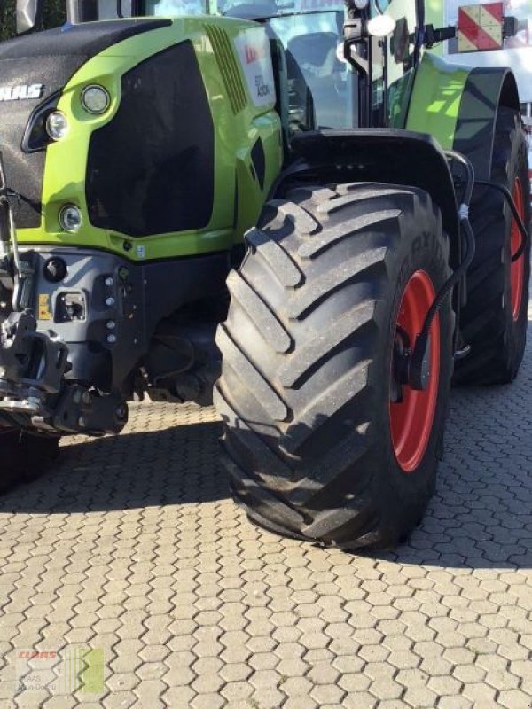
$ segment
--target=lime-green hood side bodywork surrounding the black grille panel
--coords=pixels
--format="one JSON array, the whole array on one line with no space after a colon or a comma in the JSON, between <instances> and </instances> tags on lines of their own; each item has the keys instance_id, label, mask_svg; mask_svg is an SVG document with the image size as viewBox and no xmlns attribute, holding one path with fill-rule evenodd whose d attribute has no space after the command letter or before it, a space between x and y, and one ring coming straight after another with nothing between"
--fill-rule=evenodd
<instances>
[{"instance_id":1,"label":"lime-green hood side bodywork surrounding the black grille panel","mask_svg":"<svg viewBox=\"0 0 532 709\"><path fill-rule=\"evenodd\" d=\"M207 36L208 27L213 26L223 27L230 42L232 40L230 46L237 58L235 66L247 94L245 105L238 113L231 109L226 85ZM250 30L256 31L257 25L245 20L210 16L174 18L170 26L114 44L86 62L66 84L59 99L58 109L66 114L70 130L64 139L47 148L41 227L19 230L21 244L91 246L120 253L132 260L148 261L223 251L239 243L244 231L256 222L283 160L275 99L271 97L268 105L260 107L254 104L248 95L246 76L235 50L234 39ZM134 248L126 252L123 245L124 239L128 239L127 234L90 225L85 202L90 136L113 119L120 105L121 76L146 58L185 40L191 40L194 46L215 128L215 198L211 219L202 230L131 239ZM92 116L82 108L82 89L92 83L105 86L112 97L112 104L103 116ZM250 157L259 136L265 153L262 187L251 168ZM198 199L201 199L200 195ZM75 204L82 210L82 228L75 234L60 230L59 211L65 204Z\"/></svg>"}]
</instances>

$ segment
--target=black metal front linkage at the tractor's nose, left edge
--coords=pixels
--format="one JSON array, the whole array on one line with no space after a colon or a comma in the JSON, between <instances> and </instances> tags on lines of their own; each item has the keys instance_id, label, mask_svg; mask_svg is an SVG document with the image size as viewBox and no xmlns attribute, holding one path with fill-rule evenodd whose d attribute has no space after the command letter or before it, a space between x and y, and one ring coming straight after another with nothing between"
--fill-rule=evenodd
<instances>
[{"instance_id":1,"label":"black metal front linkage at the tractor's nose, left edge","mask_svg":"<svg viewBox=\"0 0 532 709\"><path fill-rule=\"evenodd\" d=\"M0 153L0 284L11 310L0 324L0 421L43 432L118 433L128 420L119 394L65 378L68 347L54 331L37 331L30 308L33 272L21 261L13 217L18 195L5 182Z\"/></svg>"}]
</instances>

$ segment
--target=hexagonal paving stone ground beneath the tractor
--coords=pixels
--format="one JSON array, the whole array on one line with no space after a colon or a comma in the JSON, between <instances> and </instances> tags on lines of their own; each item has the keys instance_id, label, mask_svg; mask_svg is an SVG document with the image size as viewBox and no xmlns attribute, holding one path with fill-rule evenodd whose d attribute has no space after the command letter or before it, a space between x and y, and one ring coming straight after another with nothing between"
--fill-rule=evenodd
<instances>
[{"instance_id":1,"label":"hexagonal paving stone ground beneath the tractor","mask_svg":"<svg viewBox=\"0 0 532 709\"><path fill-rule=\"evenodd\" d=\"M437 494L379 556L252 526L212 409L66 440L0 500L0 707L528 709L531 350L512 386L453 393ZM92 691L76 648L103 650Z\"/></svg>"}]
</instances>

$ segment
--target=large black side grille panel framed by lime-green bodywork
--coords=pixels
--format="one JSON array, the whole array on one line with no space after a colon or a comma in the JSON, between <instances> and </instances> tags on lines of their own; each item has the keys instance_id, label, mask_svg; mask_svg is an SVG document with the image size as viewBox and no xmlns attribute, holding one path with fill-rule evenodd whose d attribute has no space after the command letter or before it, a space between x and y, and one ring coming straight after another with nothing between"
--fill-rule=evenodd
<instances>
[{"instance_id":1,"label":"large black side grille panel framed by lime-green bodywork","mask_svg":"<svg viewBox=\"0 0 532 709\"><path fill-rule=\"evenodd\" d=\"M201 229L214 199L215 137L192 43L124 74L121 105L90 139L90 222L144 237Z\"/></svg>"}]
</instances>

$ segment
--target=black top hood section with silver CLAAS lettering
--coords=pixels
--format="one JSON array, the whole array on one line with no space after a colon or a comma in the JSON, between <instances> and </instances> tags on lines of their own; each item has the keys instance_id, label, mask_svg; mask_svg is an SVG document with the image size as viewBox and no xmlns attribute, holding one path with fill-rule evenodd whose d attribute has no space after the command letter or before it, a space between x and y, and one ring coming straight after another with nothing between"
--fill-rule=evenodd
<instances>
[{"instance_id":1,"label":"black top hood section with silver CLAAS lettering","mask_svg":"<svg viewBox=\"0 0 532 709\"><path fill-rule=\"evenodd\" d=\"M125 19L66 25L0 43L0 150L9 186L22 197L20 228L38 227L45 151L23 147L31 117L91 57L112 44L171 24L168 19Z\"/></svg>"}]
</instances>

